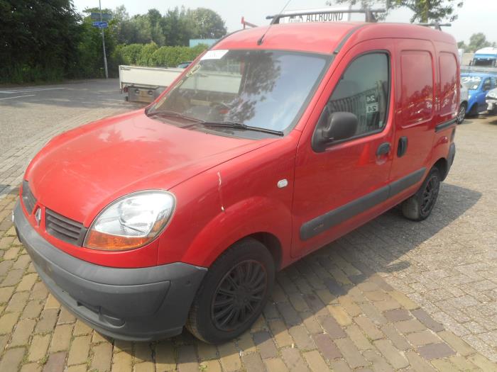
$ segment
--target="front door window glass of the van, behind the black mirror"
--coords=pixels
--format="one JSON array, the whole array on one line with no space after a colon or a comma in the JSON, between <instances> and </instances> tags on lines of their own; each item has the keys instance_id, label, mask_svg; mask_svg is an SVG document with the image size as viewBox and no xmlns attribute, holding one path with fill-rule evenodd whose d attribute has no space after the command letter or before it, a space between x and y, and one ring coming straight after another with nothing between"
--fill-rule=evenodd
<instances>
[{"instance_id":1,"label":"front door window glass of the van, behind the black mirror","mask_svg":"<svg viewBox=\"0 0 497 372\"><path fill-rule=\"evenodd\" d=\"M354 113L359 119L354 137L378 132L386 123L389 90L388 55L361 55L345 70L325 110Z\"/></svg>"}]
</instances>

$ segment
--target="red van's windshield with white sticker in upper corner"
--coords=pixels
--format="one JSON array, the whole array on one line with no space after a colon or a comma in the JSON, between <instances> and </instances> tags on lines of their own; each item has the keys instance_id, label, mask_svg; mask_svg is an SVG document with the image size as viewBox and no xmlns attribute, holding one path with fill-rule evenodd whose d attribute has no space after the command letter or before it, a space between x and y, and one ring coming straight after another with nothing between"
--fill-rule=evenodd
<instances>
[{"instance_id":1,"label":"red van's windshield with white sticker in upper corner","mask_svg":"<svg viewBox=\"0 0 497 372\"><path fill-rule=\"evenodd\" d=\"M179 126L185 126L179 118L187 118L285 132L296 124L328 60L300 52L210 50L147 114L175 113L168 123ZM210 130L261 137L241 126Z\"/></svg>"}]
</instances>

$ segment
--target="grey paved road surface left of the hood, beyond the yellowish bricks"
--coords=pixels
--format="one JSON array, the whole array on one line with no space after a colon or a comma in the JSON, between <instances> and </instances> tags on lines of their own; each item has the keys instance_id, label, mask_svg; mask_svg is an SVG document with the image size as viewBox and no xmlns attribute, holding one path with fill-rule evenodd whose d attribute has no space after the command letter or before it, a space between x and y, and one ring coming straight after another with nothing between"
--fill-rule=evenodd
<instances>
[{"instance_id":1,"label":"grey paved road surface left of the hood, beyond the yellowish bricks","mask_svg":"<svg viewBox=\"0 0 497 372\"><path fill-rule=\"evenodd\" d=\"M19 184L29 160L51 137L139 106L119 94L119 80L0 88L0 196Z\"/></svg>"}]
</instances>

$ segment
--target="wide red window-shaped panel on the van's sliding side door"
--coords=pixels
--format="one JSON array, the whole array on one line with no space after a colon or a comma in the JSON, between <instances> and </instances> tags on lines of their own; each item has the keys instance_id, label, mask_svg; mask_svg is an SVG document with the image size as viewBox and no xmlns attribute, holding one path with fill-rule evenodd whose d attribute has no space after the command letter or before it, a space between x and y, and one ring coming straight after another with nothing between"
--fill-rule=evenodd
<instances>
[{"instance_id":1,"label":"wide red window-shaped panel on the van's sliding side door","mask_svg":"<svg viewBox=\"0 0 497 372\"><path fill-rule=\"evenodd\" d=\"M433 62L430 52L405 50L400 55L402 125L430 120L433 116Z\"/></svg>"}]
</instances>

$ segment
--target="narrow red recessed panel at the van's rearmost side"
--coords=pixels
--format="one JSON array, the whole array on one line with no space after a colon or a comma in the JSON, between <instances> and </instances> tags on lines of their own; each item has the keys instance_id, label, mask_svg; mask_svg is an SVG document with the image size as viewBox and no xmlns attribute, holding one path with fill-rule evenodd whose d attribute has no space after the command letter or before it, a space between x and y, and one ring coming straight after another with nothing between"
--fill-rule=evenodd
<instances>
[{"instance_id":1,"label":"narrow red recessed panel at the van's rearmost side","mask_svg":"<svg viewBox=\"0 0 497 372\"><path fill-rule=\"evenodd\" d=\"M457 111L457 60L452 53L440 53L440 115Z\"/></svg>"}]
</instances>

